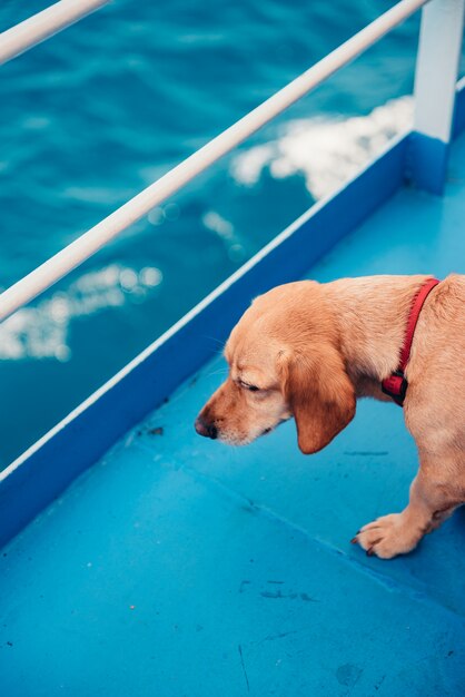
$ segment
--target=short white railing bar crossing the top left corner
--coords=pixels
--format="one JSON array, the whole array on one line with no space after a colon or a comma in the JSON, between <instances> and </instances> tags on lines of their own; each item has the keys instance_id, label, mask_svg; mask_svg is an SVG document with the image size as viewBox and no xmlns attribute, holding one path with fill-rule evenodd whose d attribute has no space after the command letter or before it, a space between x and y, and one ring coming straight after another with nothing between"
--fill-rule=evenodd
<instances>
[{"instance_id":1,"label":"short white railing bar crossing the top left corner","mask_svg":"<svg viewBox=\"0 0 465 697\"><path fill-rule=\"evenodd\" d=\"M95 12L110 0L60 0L0 33L0 65Z\"/></svg>"}]
</instances>

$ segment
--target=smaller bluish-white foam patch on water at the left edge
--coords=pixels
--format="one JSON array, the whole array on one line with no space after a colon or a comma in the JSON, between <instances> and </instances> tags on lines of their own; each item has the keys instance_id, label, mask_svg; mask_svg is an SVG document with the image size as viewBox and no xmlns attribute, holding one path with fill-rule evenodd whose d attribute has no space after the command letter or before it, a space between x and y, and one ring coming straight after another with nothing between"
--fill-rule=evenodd
<instances>
[{"instance_id":1,"label":"smaller bluish-white foam patch on water at the left edge","mask_svg":"<svg viewBox=\"0 0 465 697\"><path fill-rule=\"evenodd\" d=\"M23 307L0 324L0 359L57 359L71 356L68 335L71 320L141 301L161 283L161 272L147 266L136 271L111 264L83 274L66 292L57 292L37 305Z\"/></svg>"}]
</instances>

